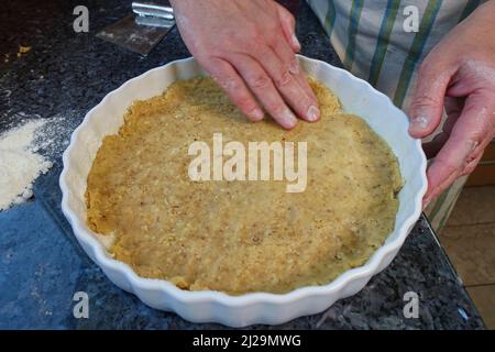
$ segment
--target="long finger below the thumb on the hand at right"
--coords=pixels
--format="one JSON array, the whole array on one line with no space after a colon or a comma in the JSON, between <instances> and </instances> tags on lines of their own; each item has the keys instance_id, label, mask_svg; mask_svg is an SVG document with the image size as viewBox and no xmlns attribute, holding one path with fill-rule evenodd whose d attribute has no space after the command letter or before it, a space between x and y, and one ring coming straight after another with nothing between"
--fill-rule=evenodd
<instances>
[{"instance_id":1,"label":"long finger below the thumb on the hand at right","mask_svg":"<svg viewBox=\"0 0 495 352\"><path fill-rule=\"evenodd\" d=\"M470 173L483 150L494 136L495 106L486 106L490 97L477 95L466 99L450 138L428 168L425 202L440 195L461 175ZM492 103L493 105L493 103Z\"/></svg>"}]
</instances>

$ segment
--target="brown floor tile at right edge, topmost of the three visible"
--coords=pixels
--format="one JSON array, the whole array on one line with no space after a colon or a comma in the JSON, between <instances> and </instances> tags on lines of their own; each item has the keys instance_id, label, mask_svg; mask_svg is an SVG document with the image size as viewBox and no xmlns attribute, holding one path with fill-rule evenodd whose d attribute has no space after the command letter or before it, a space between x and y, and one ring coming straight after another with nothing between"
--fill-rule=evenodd
<instances>
[{"instance_id":1,"label":"brown floor tile at right edge, topmost of the three visible","mask_svg":"<svg viewBox=\"0 0 495 352\"><path fill-rule=\"evenodd\" d=\"M447 226L495 222L495 186L462 190Z\"/></svg>"}]
</instances>

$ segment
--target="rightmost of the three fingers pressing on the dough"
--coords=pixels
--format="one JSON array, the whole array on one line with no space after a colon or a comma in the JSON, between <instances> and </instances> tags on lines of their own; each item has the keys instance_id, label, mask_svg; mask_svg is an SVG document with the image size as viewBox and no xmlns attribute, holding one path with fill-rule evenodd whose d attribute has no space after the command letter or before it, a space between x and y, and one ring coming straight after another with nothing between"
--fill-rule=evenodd
<instances>
[{"instance_id":1,"label":"rightmost of the three fingers pressing on the dough","mask_svg":"<svg viewBox=\"0 0 495 352\"><path fill-rule=\"evenodd\" d=\"M293 53L290 53L290 55L294 57ZM317 121L320 116L318 106L315 100L306 94L295 75L299 75L297 61L295 61L297 73L292 73L290 67L286 67L270 47L264 51L262 56L264 58L263 62L258 62L262 63L263 68L272 78L284 100L304 120L309 122Z\"/></svg>"}]
</instances>

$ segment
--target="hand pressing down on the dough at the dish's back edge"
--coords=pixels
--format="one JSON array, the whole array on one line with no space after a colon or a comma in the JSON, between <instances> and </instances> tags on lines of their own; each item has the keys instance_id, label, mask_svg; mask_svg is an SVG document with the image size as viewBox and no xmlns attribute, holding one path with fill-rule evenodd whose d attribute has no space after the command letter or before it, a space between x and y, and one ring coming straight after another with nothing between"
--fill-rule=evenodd
<instances>
[{"instance_id":1,"label":"hand pressing down on the dough at the dish's back edge","mask_svg":"<svg viewBox=\"0 0 495 352\"><path fill-rule=\"evenodd\" d=\"M318 120L318 101L295 55L295 20L285 8L273 0L170 2L191 54L250 120L263 119L258 102L285 129L296 127L296 114Z\"/></svg>"}]
</instances>

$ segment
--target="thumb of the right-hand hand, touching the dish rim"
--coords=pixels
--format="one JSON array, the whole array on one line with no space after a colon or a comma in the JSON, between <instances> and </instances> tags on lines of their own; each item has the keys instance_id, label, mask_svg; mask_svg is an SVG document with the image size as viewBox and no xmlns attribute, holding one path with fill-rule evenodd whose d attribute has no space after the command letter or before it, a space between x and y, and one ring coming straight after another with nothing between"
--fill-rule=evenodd
<instances>
[{"instance_id":1,"label":"thumb of the right-hand hand, touching the dish rim","mask_svg":"<svg viewBox=\"0 0 495 352\"><path fill-rule=\"evenodd\" d=\"M425 138L439 125L443 112L443 99L451 74L435 59L425 59L419 72L409 108L409 134Z\"/></svg>"}]
</instances>

